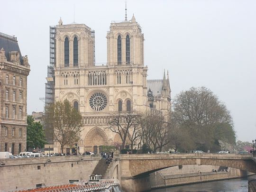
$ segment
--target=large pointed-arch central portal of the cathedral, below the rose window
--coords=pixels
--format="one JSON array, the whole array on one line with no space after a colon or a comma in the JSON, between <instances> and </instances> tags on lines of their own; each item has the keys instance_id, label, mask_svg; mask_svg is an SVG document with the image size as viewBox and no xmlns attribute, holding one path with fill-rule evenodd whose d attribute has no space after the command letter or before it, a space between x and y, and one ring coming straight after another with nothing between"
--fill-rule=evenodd
<instances>
[{"instance_id":1,"label":"large pointed-arch central portal of the cathedral, below the rose window","mask_svg":"<svg viewBox=\"0 0 256 192\"><path fill-rule=\"evenodd\" d=\"M91 151L97 154L100 151L100 146L108 146L108 137L106 133L98 127L92 128L84 139L84 151ZM95 153L96 152L96 153Z\"/></svg>"}]
</instances>

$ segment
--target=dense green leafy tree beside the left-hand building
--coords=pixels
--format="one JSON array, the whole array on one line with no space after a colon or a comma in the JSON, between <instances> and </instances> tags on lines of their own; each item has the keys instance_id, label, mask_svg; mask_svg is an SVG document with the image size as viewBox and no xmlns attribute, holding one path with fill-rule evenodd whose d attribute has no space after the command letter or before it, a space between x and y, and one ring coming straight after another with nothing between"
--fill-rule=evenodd
<instances>
[{"instance_id":1,"label":"dense green leafy tree beside the left-hand building","mask_svg":"<svg viewBox=\"0 0 256 192\"><path fill-rule=\"evenodd\" d=\"M46 135L43 125L35 122L32 116L27 116L27 150L30 148L44 148Z\"/></svg>"}]
</instances>

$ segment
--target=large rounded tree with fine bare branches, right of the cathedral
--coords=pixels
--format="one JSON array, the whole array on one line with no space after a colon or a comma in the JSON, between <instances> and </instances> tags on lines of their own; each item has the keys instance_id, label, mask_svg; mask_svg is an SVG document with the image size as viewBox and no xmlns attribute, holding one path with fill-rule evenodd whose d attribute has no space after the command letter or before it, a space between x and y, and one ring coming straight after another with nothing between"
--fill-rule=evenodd
<instances>
[{"instance_id":1,"label":"large rounded tree with fine bare branches, right of the cathedral","mask_svg":"<svg viewBox=\"0 0 256 192\"><path fill-rule=\"evenodd\" d=\"M182 151L220 150L219 140L235 144L233 120L226 105L205 87L180 92L173 102L171 145Z\"/></svg>"}]
</instances>

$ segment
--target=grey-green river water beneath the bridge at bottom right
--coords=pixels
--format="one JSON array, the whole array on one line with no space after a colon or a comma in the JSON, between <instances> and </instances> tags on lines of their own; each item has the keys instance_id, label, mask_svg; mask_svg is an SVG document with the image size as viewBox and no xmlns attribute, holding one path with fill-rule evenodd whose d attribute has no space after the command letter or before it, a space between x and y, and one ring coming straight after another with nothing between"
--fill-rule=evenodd
<instances>
[{"instance_id":1,"label":"grey-green river water beneath the bridge at bottom right","mask_svg":"<svg viewBox=\"0 0 256 192\"><path fill-rule=\"evenodd\" d=\"M241 179L166 187L166 189L155 189L150 192L248 192L248 178L256 178L256 175Z\"/></svg>"}]
</instances>

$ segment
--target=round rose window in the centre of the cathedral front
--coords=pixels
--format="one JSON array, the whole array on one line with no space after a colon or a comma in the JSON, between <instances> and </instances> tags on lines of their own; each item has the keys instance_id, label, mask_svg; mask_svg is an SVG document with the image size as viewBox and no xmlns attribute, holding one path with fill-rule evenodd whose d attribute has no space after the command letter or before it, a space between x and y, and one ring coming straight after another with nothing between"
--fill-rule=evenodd
<instances>
[{"instance_id":1,"label":"round rose window in the centre of the cathedral front","mask_svg":"<svg viewBox=\"0 0 256 192\"><path fill-rule=\"evenodd\" d=\"M95 92L91 95L89 104L92 110L101 111L104 110L107 106L107 97L101 92Z\"/></svg>"}]
</instances>

